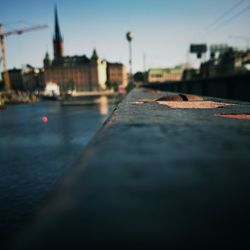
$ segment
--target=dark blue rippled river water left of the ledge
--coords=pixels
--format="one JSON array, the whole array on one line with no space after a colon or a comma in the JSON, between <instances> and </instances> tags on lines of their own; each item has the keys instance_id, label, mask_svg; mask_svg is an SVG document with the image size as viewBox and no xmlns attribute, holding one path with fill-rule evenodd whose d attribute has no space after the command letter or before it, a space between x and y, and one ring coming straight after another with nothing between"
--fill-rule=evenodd
<instances>
[{"instance_id":1,"label":"dark blue rippled river water left of the ledge","mask_svg":"<svg viewBox=\"0 0 250 250\"><path fill-rule=\"evenodd\" d=\"M0 110L0 247L25 227L109 111L51 101Z\"/></svg>"}]
</instances>

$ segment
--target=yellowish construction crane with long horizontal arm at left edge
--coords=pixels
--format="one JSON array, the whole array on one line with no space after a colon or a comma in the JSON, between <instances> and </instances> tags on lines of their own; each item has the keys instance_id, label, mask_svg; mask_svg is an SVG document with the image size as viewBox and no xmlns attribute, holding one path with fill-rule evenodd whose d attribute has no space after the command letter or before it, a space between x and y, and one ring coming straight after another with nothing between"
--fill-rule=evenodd
<instances>
[{"instance_id":1,"label":"yellowish construction crane with long horizontal arm at left edge","mask_svg":"<svg viewBox=\"0 0 250 250\"><path fill-rule=\"evenodd\" d=\"M33 27L28 27L28 28L23 28L23 29L16 29L12 31L3 31L3 25L0 24L0 49L1 49L1 54L2 58L1 61L3 62L3 80L5 83L5 91L10 91L11 90L11 82L10 82L10 77L9 77L9 72L8 72L8 67L7 67L7 60L6 60L6 50L5 50L5 37L10 36L10 35L21 35L24 32L29 32L29 31L35 31L39 29L44 29L48 28L47 25L37 25Z\"/></svg>"}]
</instances>

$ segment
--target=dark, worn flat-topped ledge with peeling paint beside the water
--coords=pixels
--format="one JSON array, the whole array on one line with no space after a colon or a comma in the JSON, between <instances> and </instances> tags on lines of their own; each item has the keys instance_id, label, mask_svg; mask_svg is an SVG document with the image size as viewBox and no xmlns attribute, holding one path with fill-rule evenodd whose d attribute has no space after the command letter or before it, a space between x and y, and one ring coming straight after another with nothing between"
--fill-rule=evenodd
<instances>
[{"instance_id":1,"label":"dark, worn flat-topped ledge with peeling paint beside the water","mask_svg":"<svg viewBox=\"0 0 250 250\"><path fill-rule=\"evenodd\" d=\"M161 96L124 99L14 248L250 247L250 121L217 115L250 105L172 109Z\"/></svg>"}]
</instances>

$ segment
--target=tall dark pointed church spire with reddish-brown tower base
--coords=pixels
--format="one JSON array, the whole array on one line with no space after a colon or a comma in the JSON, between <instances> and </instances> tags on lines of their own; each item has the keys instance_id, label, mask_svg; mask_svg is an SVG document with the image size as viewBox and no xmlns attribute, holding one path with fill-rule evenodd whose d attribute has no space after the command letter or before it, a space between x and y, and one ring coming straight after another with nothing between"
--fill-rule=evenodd
<instances>
[{"instance_id":1,"label":"tall dark pointed church spire with reddish-brown tower base","mask_svg":"<svg viewBox=\"0 0 250 250\"><path fill-rule=\"evenodd\" d=\"M55 33L53 38L54 59L63 57L63 38L60 32L60 26L57 15L57 7L55 6Z\"/></svg>"}]
</instances>

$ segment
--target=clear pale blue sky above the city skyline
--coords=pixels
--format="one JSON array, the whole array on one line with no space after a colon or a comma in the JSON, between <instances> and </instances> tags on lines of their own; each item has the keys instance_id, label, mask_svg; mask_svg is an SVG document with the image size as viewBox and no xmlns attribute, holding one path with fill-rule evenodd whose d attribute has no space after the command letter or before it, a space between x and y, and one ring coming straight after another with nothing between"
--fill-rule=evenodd
<instances>
[{"instance_id":1,"label":"clear pale blue sky above the city skyline","mask_svg":"<svg viewBox=\"0 0 250 250\"><path fill-rule=\"evenodd\" d=\"M243 49L246 41L230 36L250 38L250 0L0 0L5 31L49 26L7 38L9 68L27 63L40 67L46 50L53 54L55 3L66 55L90 56L96 47L100 57L128 65L125 34L132 31L134 72L186 62L190 43ZM19 20L23 24L15 23Z\"/></svg>"}]
</instances>

